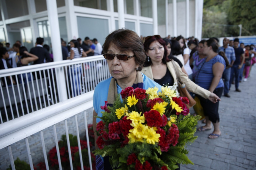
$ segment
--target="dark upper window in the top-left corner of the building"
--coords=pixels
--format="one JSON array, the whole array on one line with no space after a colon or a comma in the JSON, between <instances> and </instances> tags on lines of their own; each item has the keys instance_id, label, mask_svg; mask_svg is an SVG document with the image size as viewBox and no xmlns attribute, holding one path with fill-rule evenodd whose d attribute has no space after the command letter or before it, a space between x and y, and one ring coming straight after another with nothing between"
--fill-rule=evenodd
<instances>
[{"instance_id":1,"label":"dark upper window in the top-left corner of the building","mask_svg":"<svg viewBox=\"0 0 256 170\"><path fill-rule=\"evenodd\" d=\"M2 3L3 6L6 5L6 8L3 8L6 10L5 19L29 15L27 0L3 0Z\"/></svg>"}]
</instances>

